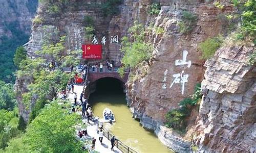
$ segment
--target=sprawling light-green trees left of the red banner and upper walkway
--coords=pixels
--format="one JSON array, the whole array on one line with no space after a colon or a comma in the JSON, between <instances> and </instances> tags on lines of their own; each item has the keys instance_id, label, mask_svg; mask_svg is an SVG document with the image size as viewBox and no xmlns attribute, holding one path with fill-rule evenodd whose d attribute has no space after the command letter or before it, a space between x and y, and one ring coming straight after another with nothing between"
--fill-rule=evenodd
<instances>
[{"instance_id":1,"label":"sprawling light-green trees left of the red banner and upper walkway","mask_svg":"<svg viewBox=\"0 0 256 153\"><path fill-rule=\"evenodd\" d=\"M55 44L44 44L42 50L37 54L47 56L52 63L57 63L59 67L69 66L69 64L76 65L78 60L69 61L74 59L77 52L66 53L65 55L65 42L66 37L61 37L60 41ZM20 63L17 77L31 77L33 84L28 86L29 91L22 95L23 103L29 107L31 100L35 101L35 106L29 116L31 122L41 111L42 108L53 99L57 98L57 93L66 88L67 82L71 74L62 72L60 69L49 71L48 65L45 64L46 60L42 58L25 59Z\"/></svg>"}]
</instances>

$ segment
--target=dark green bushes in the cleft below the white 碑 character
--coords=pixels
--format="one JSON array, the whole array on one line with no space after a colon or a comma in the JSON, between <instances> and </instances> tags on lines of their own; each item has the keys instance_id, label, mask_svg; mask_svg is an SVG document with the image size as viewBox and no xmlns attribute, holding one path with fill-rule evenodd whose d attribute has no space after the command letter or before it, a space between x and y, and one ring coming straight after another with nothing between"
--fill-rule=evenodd
<instances>
[{"instance_id":1,"label":"dark green bushes in the cleft below the white \u7891 character","mask_svg":"<svg viewBox=\"0 0 256 153\"><path fill-rule=\"evenodd\" d=\"M197 84L195 87L195 92L193 95L191 95L191 98L185 98L181 100L179 103L179 109L173 109L166 113L165 125L179 132L185 132L185 119L189 116L191 109L193 109L193 106L200 104L201 98L201 84Z\"/></svg>"}]
</instances>

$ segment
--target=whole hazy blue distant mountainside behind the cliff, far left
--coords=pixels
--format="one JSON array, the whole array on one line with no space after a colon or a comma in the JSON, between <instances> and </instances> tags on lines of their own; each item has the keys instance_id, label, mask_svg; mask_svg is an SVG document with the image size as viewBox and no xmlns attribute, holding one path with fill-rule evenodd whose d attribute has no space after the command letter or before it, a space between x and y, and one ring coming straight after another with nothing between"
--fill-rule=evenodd
<instances>
[{"instance_id":1,"label":"whole hazy blue distant mountainside behind the cliff, far left","mask_svg":"<svg viewBox=\"0 0 256 153\"><path fill-rule=\"evenodd\" d=\"M29 40L38 0L0 1L0 79L13 83L13 55L16 47Z\"/></svg>"}]
</instances>

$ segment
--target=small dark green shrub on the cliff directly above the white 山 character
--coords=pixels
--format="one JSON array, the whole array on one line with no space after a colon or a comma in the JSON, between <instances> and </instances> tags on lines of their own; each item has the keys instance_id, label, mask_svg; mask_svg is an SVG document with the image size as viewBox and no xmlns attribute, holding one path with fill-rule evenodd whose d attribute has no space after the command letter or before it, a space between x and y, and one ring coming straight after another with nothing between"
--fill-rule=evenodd
<instances>
[{"instance_id":1,"label":"small dark green shrub on the cliff directly above the white \u5c71 character","mask_svg":"<svg viewBox=\"0 0 256 153\"><path fill-rule=\"evenodd\" d=\"M187 34L191 32L196 26L197 16L192 12L183 11L182 12L182 21L178 22L179 29L178 31L182 34Z\"/></svg>"}]
</instances>

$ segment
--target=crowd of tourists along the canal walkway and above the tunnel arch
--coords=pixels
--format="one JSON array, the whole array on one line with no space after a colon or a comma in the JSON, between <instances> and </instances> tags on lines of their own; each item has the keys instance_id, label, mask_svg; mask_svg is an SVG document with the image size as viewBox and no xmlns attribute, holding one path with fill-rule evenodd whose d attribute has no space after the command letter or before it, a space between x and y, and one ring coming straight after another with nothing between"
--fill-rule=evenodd
<instances>
[{"instance_id":1,"label":"crowd of tourists along the canal walkway and above the tunnel arch","mask_svg":"<svg viewBox=\"0 0 256 153\"><path fill-rule=\"evenodd\" d=\"M52 64L52 63L50 63ZM109 61L106 61L105 63L106 68L108 68L108 70L112 71L113 70L113 63L110 63ZM55 65L49 65L50 71L54 71L55 70ZM86 80L87 77L87 72L93 71L93 72L97 72L97 69L99 68L99 72L103 72L103 64L102 63L97 63L95 65L90 65L90 64L79 64L76 66L76 68L74 69L74 67L70 67L71 71L76 71L75 72L75 76L74 79L72 79L68 85L66 89L61 90L61 92L59 93L59 97L61 99L66 99L68 94L74 94L74 104L72 105L71 108L71 112L70 113L74 113L74 112L81 112L82 113L82 118L83 119L87 119L87 123L91 124L91 122L93 122L95 125L97 124L97 133L98 133L98 137L99 137L99 141L102 144L103 141L103 123L99 122L99 117L94 117L93 113L92 113L92 107L90 106L90 104L88 103L88 99L84 96L83 93L80 94L79 100L77 99L77 93L74 92L74 85L75 84L80 84L82 82L84 82ZM81 82L82 80L82 82ZM90 122L91 121L91 122ZM86 124L86 123L84 123ZM92 142L92 146L91 148L93 150L95 150L95 143L96 143L96 138L91 138L88 135L88 131L87 129L83 129L78 131L77 133L77 137L78 139L80 139L81 141L86 141L88 139L91 140ZM111 139L111 150L114 151L114 146L115 146L115 142L117 139L115 139L115 137L113 136L113 138ZM84 149L88 149L86 147L84 147Z\"/></svg>"}]
</instances>

